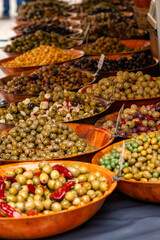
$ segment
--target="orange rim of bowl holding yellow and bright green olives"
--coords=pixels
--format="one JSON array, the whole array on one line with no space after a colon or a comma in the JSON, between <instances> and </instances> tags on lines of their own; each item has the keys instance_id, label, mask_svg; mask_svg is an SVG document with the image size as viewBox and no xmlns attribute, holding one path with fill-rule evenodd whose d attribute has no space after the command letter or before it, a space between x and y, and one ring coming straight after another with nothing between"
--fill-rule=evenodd
<instances>
[{"instance_id":1,"label":"orange rim of bowl holding yellow and bright green olives","mask_svg":"<svg viewBox=\"0 0 160 240\"><path fill-rule=\"evenodd\" d=\"M160 134L159 134L160 135ZM131 139L125 139L124 140L125 142L129 142L129 141L131 141ZM102 150L100 150L99 152L97 152L94 156L93 156L93 158L92 158L92 160L91 160L91 163L92 164L97 164L98 166L100 166L98 163L95 163L95 158L96 158L96 155L98 155L98 154L102 154L102 151L104 151L105 153L102 155L102 156L104 156L106 153L108 153L108 147L114 147L114 146L117 146L117 145L122 145L123 144L123 141L119 141L119 142L116 142L116 143L113 143L113 144L111 144L111 145L109 145L109 146L107 146L106 148L104 148L104 149L102 149ZM112 148L113 149L113 148ZM110 170L109 170L110 171ZM112 171L110 171L110 172L112 172ZM112 172L113 173L113 172ZM114 173L113 173L114 174ZM114 176L115 176L115 174L114 174ZM131 184L139 184L139 185L141 185L141 184L143 184L143 185L160 185L160 181L158 182L145 182L145 181L137 181L137 180L127 180L127 179L124 179L124 178L122 178L122 179L120 179L120 181L119 181L120 183L121 182L124 182L124 183L131 183Z\"/></svg>"}]
</instances>

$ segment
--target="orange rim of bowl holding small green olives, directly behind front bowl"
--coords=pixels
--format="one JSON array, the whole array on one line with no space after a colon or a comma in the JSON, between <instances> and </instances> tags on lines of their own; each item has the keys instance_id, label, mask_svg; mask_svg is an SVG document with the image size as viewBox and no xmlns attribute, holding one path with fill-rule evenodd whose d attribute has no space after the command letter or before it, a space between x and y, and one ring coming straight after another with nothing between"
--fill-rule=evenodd
<instances>
[{"instance_id":1,"label":"orange rim of bowl holding small green olives, directly behind front bowl","mask_svg":"<svg viewBox=\"0 0 160 240\"><path fill-rule=\"evenodd\" d=\"M78 154L78 155L73 155L73 156L66 156L66 157L61 157L61 158L49 158L49 159L26 159L26 160L5 160L5 159L2 159L2 158L0 158L0 163L1 162L5 162L5 163L9 163L9 162L15 162L15 163L18 163L18 162L20 162L20 163L25 163L25 162L38 162L38 161L54 161L54 160L56 160L56 161L62 161L63 159L65 160L65 159L74 159L75 157L81 157L81 156L84 156L84 155L88 155L88 154L92 154L92 153L96 153L97 151L100 151L100 150L102 150L103 148L105 148L106 146L108 146L109 144L111 144L113 141L114 141L114 137L113 137L113 135L112 135L112 133L111 133L111 131L110 130L108 130L108 129L104 129L104 128L101 128L101 127L97 127L97 126L94 126L94 125L90 125L90 124L83 124L83 123L63 123L63 124L66 124L66 125L68 125L69 127L71 127L72 128L72 125L82 125L82 126L88 126L88 127L95 127L96 129L100 129L102 132L106 132L106 133L108 133L109 135L110 135L110 138L109 138L109 141L107 142L107 143L105 143L103 146L101 146L101 147L99 147L99 148L96 148L96 149L94 149L94 150L92 150L92 151L90 151L90 152L86 152L86 153L81 153L81 154ZM14 126L13 126L14 127ZM12 127L12 128L13 128ZM0 135L1 135L1 133L2 132L4 132L4 131L7 131L7 132L9 132L12 128L9 128L9 129L5 129L5 130L2 130L2 131L0 131Z\"/></svg>"}]
</instances>

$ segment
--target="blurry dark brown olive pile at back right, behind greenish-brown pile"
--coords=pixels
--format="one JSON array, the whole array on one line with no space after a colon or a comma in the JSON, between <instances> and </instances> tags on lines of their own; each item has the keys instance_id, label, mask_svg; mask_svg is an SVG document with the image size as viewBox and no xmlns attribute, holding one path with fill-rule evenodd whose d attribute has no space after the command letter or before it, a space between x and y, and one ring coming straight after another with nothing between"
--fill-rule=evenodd
<instances>
[{"instance_id":1,"label":"blurry dark brown olive pile at back right, behind greenish-brown pile","mask_svg":"<svg viewBox=\"0 0 160 240\"><path fill-rule=\"evenodd\" d=\"M120 13L100 13L89 15L84 19L81 27L86 28L90 23L89 41L96 41L102 36L118 39L146 38L147 33L137 28L134 20L129 20Z\"/></svg>"}]
</instances>

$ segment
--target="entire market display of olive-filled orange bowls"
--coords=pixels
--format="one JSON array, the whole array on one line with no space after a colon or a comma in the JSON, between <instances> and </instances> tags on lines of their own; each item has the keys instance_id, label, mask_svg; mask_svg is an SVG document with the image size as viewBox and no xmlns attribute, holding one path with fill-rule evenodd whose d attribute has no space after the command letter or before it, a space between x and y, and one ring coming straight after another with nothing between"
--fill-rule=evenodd
<instances>
[{"instance_id":1,"label":"entire market display of olive-filled orange bowls","mask_svg":"<svg viewBox=\"0 0 160 240\"><path fill-rule=\"evenodd\" d=\"M9 75L0 79L0 238L76 228L116 185L160 202L159 59L134 9L128 0L19 7L17 35L1 47L10 57L0 60Z\"/></svg>"}]
</instances>

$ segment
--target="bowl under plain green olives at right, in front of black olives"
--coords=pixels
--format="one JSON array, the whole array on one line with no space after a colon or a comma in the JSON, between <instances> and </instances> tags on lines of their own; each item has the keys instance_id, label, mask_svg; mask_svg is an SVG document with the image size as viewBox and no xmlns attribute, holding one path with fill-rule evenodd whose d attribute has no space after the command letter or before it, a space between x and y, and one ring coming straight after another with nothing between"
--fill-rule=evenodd
<instances>
[{"instance_id":1,"label":"bowl under plain green olives at right, in front of black olives","mask_svg":"<svg viewBox=\"0 0 160 240\"><path fill-rule=\"evenodd\" d=\"M92 88L92 85L88 85L86 87L81 88L79 91L81 93L86 93L87 88ZM155 104L157 102L160 102L160 97L151 97L151 98L139 98L139 99L112 99L113 103L110 108L110 112L117 112L122 107L122 105L125 105L125 108L130 107L132 104L136 104L137 106L142 105L149 105L149 104Z\"/></svg>"}]
</instances>

